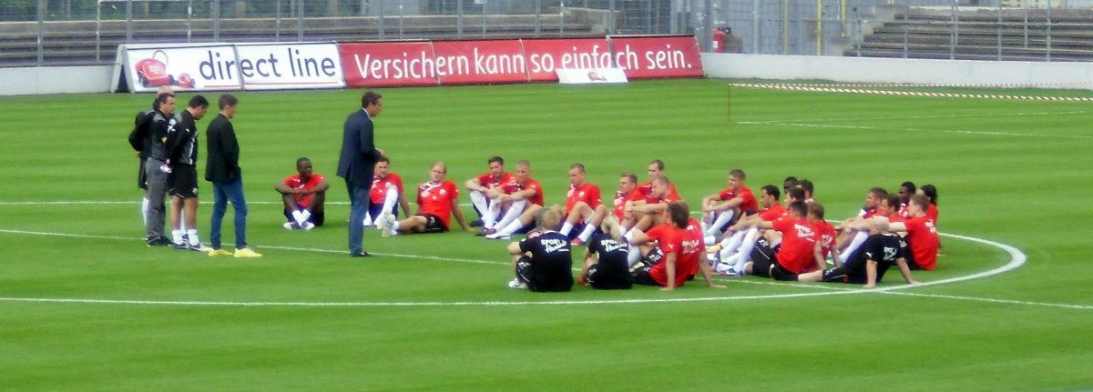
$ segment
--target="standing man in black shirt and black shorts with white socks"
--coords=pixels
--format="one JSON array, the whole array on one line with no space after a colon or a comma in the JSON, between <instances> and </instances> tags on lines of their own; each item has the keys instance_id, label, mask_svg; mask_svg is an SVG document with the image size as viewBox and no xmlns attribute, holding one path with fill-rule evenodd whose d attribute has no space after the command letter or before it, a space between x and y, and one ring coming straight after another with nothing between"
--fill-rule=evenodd
<instances>
[{"instance_id":1,"label":"standing man in black shirt and black shorts with white socks","mask_svg":"<svg viewBox=\"0 0 1093 392\"><path fill-rule=\"evenodd\" d=\"M168 139L171 176L167 186L171 193L171 235L175 249L209 251L198 238L198 126L195 122L204 117L209 100L200 95L190 98L186 110L178 116ZM185 207L186 213L183 214ZM185 215L185 225L183 224Z\"/></svg>"}]
</instances>

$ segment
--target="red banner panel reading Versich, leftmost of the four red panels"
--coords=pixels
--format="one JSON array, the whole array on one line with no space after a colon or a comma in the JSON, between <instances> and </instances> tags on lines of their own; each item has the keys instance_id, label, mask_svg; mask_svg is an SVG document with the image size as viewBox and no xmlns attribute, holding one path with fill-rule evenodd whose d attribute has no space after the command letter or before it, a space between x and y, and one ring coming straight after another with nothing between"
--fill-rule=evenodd
<instances>
[{"instance_id":1,"label":"red banner panel reading Versich, leftmost of the four red panels","mask_svg":"<svg viewBox=\"0 0 1093 392\"><path fill-rule=\"evenodd\" d=\"M448 67L428 41L339 44L338 51L350 87L436 85Z\"/></svg>"}]
</instances>

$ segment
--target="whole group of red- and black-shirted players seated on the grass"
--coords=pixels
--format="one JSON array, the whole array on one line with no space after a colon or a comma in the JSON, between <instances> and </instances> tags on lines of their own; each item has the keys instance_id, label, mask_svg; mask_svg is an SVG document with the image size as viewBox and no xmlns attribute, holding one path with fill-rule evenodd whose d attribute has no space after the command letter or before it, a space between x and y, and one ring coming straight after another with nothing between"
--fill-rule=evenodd
<instances>
[{"instance_id":1,"label":"whole group of red- and black-shirted players seated on the grass","mask_svg":"<svg viewBox=\"0 0 1093 392\"><path fill-rule=\"evenodd\" d=\"M443 162L431 167L430 180L418 188L418 212L410 213L401 178L385 158L377 163L372 187L372 207L366 225L383 236L442 233L455 216L463 230L469 225L459 209L459 189L446 180ZM898 194L870 189L866 205L837 227L824 218L824 207L812 198L813 183L787 178L779 190L760 189L756 199L744 185L743 170L733 169L724 190L702 200L702 218L690 216L675 186L663 175L665 164L648 166L648 180L619 177L611 210L602 203L600 189L587 181L584 165L569 166L565 205L544 204L531 165L521 161L515 174L505 171L500 156L487 159L490 171L466 182L474 211L481 216L478 235L513 242L516 278L512 287L532 290L568 290L571 249L585 246L584 268L577 282L593 288L630 288L648 284L672 289L702 272L710 275L752 274L779 281L843 282L875 286L891 266L897 266L907 283L916 283L912 270L933 270L939 247L937 189L904 182ZM310 173L310 163L297 162L298 176L278 185L283 194L285 228L309 229L321 225L321 192L328 186ZM779 201L785 192L785 202ZM406 214L398 219L399 207ZM564 277L563 275L567 276Z\"/></svg>"}]
</instances>

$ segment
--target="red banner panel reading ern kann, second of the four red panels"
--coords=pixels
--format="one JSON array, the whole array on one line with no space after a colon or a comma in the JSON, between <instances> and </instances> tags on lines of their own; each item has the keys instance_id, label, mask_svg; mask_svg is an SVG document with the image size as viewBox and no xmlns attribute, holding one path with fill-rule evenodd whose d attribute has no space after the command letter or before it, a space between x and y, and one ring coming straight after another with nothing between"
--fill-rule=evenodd
<instances>
[{"instance_id":1,"label":"red banner panel reading ern kann, second of the four red panels","mask_svg":"<svg viewBox=\"0 0 1093 392\"><path fill-rule=\"evenodd\" d=\"M437 40L433 50L440 84L528 81L528 63L517 39Z\"/></svg>"}]
</instances>

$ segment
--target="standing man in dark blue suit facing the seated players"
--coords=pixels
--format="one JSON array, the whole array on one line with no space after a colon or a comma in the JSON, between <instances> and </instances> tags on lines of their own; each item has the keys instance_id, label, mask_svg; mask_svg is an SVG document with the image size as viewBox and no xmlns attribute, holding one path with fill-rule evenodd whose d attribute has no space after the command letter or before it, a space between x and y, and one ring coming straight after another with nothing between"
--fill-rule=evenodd
<instances>
[{"instance_id":1,"label":"standing man in dark blue suit facing the seated players","mask_svg":"<svg viewBox=\"0 0 1093 392\"><path fill-rule=\"evenodd\" d=\"M383 109L383 96L371 91L364 93L361 97L361 110L349 115L342 131L338 177L345 179L345 189L352 204L349 215L349 253L352 257L372 256L362 248L361 242L364 240L364 216L368 213L376 161L385 156L383 150L376 149L372 123L372 118L379 116Z\"/></svg>"}]
</instances>

